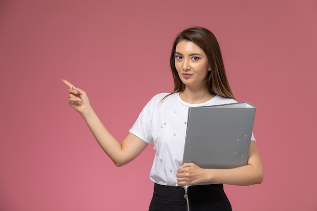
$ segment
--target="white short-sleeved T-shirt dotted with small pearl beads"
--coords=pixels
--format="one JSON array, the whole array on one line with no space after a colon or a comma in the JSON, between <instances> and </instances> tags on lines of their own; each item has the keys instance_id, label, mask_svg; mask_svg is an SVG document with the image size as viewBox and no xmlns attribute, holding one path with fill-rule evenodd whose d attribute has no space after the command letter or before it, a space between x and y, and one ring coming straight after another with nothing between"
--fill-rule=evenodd
<instances>
[{"instance_id":1,"label":"white short-sleeved T-shirt dotted with small pearl beads","mask_svg":"<svg viewBox=\"0 0 317 211\"><path fill-rule=\"evenodd\" d=\"M176 171L182 165L188 108L235 103L216 95L205 103L184 102L179 93L162 99L169 93L155 95L143 108L130 133L144 142L154 143L156 151L150 171L150 179L161 185L175 186ZM252 136L252 140L255 140Z\"/></svg>"}]
</instances>

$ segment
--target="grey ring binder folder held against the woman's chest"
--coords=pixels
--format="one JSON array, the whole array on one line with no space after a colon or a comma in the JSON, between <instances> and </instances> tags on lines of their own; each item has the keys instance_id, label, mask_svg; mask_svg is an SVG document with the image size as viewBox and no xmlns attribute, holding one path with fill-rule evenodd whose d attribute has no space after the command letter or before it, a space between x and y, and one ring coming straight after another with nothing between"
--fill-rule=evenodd
<instances>
[{"instance_id":1,"label":"grey ring binder folder held against the woman's chest","mask_svg":"<svg viewBox=\"0 0 317 211\"><path fill-rule=\"evenodd\" d=\"M183 162L202 168L246 165L255 111L248 102L190 107Z\"/></svg>"}]
</instances>

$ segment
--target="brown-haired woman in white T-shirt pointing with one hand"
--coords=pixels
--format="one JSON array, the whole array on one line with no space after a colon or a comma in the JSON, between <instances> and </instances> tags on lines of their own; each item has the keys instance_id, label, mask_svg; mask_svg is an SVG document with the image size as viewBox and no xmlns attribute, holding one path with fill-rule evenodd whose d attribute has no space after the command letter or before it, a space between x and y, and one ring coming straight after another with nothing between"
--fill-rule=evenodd
<instances>
[{"instance_id":1,"label":"brown-haired woman in white T-shirt pointing with one hand","mask_svg":"<svg viewBox=\"0 0 317 211\"><path fill-rule=\"evenodd\" d=\"M155 95L143 108L122 142L104 127L87 94L63 80L69 104L87 122L97 142L117 166L136 158L154 143L150 171L154 193L149 210L231 210L222 184L261 183L261 160L252 136L247 165L231 169L206 169L182 163L188 107L234 103L218 41L203 27L185 29L176 37L170 57L174 92ZM214 182L214 185L194 185Z\"/></svg>"}]
</instances>

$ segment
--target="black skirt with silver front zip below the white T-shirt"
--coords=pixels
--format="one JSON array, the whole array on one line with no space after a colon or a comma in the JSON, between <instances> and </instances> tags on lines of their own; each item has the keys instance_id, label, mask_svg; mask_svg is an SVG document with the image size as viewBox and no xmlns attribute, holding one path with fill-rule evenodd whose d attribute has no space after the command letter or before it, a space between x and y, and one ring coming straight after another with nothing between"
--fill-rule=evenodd
<instances>
[{"instance_id":1,"label":"black skirt with silver front zip below the white T-shirt","mask_svg":"<svg viewBox=\"0 0 317 211\"><path fill-rule=\"evenodd\" d=\"M189 209L189 210L188 210ZM149 211L232 211L222 184L184 187L154 184Z\"/></svg>"}]
</instances>

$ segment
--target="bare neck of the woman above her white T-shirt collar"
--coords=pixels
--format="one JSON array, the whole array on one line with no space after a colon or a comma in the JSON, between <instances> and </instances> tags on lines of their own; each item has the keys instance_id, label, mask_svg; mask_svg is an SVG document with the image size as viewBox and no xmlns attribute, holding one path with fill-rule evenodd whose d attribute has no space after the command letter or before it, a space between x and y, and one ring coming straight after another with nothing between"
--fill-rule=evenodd
<instances>
[{"instance_id":1,"label":"bare neck of the woman above her white T-shirt collar","mask_svg":"<svg viewBox=\"0 0 317 211\"><path fill-rule=\"evenodd\" d=\"M185 88L185 90L179 93L180 98L186 103L205 103L211 100L215 95L211 94L208 89L193 90Z\"/></svg>"}]
</instances>

